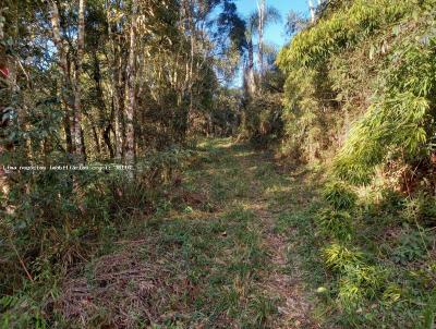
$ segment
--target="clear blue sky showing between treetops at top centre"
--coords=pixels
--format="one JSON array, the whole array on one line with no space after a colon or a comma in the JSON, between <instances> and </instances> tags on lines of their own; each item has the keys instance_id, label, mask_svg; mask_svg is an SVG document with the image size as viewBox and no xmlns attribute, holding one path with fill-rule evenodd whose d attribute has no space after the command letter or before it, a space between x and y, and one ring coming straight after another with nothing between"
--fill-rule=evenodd
<instances>
[{"instance_id":1,"label":"clear blue sky showing between treetops at top centre","mask_svg":"<svg viewBox=\"0 0 436 329\"><path fill-rule=\"evenodd\" d=\"M237 0L234 1L238 7L239 13L246 17L257 9L256 0ZM284 22L288 12L291 10L295 12L306 13L308 11L307 0L266 0L267 5L275 7L282 16L282 22L271 24L266 28L265 39L267 42L272 42L278 48L281 48L289 41L289 36L284 34Z\"/></svg>"}]
</instances>

